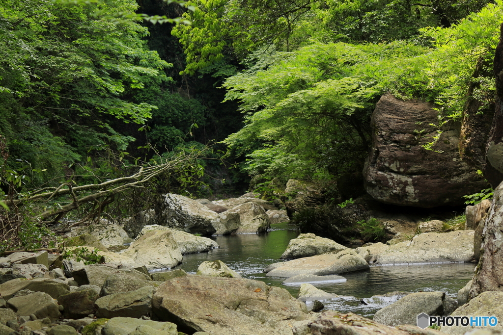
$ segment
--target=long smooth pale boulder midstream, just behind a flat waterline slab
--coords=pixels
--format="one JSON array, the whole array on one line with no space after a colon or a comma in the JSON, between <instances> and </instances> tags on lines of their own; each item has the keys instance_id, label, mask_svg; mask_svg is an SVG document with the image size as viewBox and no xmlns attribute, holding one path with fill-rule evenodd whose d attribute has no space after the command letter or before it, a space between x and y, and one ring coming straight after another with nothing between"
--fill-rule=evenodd
<instances>
[{"instance_id":1,"label":"long smooth pale boulder midstream, just behind a flat waterline slab","mask_svg":"<svg viewBox=\"0 0 503 335\"><path fill-rule=\"evenodd\" d=\"M366 270L369 265L354 250L347 249L338 253L299 258L293 261L269 265L265 272L268 277L293 277L300 274L317 276L341 274Z\"/></svg>"}]
</instances>

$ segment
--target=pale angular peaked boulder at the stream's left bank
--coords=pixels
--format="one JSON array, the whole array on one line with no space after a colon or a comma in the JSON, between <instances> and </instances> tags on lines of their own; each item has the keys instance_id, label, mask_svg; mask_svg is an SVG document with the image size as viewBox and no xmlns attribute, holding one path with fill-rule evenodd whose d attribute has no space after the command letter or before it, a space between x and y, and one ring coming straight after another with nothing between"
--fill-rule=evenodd
<instances>
[{"instance_id":1,"label":"pale angular peaked boulder at the stream's left bank","mask_svg":"<svg viewBox=\"0 0 503 335\"><path fill-rule=\"evenodd\" d=\"M170 269L182 263L182 253L174 234L165 230L145 233L122 255L132 258L137 263L145 264L148 270Z\"/></svg>"}]
</instances>

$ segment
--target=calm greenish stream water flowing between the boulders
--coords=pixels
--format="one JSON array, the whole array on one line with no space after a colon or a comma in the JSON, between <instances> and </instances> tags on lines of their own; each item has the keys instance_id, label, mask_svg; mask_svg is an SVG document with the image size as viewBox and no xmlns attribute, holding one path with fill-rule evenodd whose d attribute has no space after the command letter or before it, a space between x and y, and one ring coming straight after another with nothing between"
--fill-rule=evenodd
<instances>
[{"instance_id":1,"label":"calm greenish stream water flowing between the boulders","mask_svg":"<svg viewBox=\"0 0 503 335\"><path fill-rule=\"evenodd\" d=\"M299 286L283 285L284 278L266 277L264 267L280 261L288 242L298 233L287 224L272 225L265 234L214 236L220 248L207 253L184 255L176 269L195 274L202 262L221 260L243 278L264 281L268 285L287 289L297 297ZM343 274L344 283L319 283L317 288L345 296L338 300L322 301L326 308L354 312L372 317L390 302L363 304L362 298L392 291L444 291L452 298L472 278L475 263L444 263L423 265L372 266L369 270Z\"/></svg>"}]
</instances>

